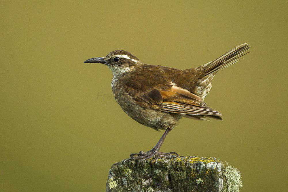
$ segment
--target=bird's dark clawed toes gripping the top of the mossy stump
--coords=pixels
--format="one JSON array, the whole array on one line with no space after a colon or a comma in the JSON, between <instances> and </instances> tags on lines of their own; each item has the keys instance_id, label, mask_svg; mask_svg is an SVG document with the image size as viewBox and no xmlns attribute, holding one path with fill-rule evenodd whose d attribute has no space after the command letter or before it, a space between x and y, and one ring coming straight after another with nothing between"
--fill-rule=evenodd
<instances>
[{"instance_id":1,"label":"bird's dark clawed toes gripping the top of the mossy stump","mask_svg":"<svg viewBox=\"0 0 288 192\"><path fill-rule=\"evenodd\" d=\"M136 155L137 155L137 157L134 157ZM147 151L147 152L140 151L139 153L131 153L130 158L128 160L129 161L131 161L131 160L145 160L145 159L149 159L151 157L163 157L163 158L169 158L170 159L170 158L174 158L174 157L179 157L179 155L175 152L163 153L157 149L151 149L150 151Z\"/></svg>"}]
</instances>

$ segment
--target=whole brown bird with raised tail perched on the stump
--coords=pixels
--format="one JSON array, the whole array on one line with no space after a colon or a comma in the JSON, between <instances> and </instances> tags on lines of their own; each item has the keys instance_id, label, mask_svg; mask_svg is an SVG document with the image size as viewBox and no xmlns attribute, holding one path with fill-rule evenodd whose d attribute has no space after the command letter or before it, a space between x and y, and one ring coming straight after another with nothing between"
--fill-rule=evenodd
<instances>
[{"instance_id":1,"label":"whole brown bird with raised tail perched on the stump","mask_svg":"<svg viewBox=\"0 0 288 192\"><path fill-rule=\"evenodd\" d=\"M130 159L171 158L178 154L159 150L179 119L222 119L219 111L204 102L211 90L211 80L219 70L239 61L250 48L248 43L238 45L209 63L185 70L148 65L123 50L112 51L106 57L88 59L84 63L106 64L113 73L113 95L123 111L142 125L157 131L165 130L155 147L148 152L132 153ZM138 157L134 157L136 155Z\"/></svg>"}]
</instances>

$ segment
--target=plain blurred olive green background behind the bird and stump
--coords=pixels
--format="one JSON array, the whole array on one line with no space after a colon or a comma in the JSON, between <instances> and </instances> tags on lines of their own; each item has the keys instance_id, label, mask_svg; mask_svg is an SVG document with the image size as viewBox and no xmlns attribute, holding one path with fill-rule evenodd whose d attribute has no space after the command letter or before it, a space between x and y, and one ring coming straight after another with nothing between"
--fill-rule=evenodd
<instances>
[{"instance_id":1,"label":"plain blurred olive green background behind the bird and stump","mask_svg":"<svg viewBox=\"0 0 288 192\"><path fill-rule=\"evenodd\" d=\"M200 66L238 44L205 101L223 121L181 119L162 151L213 156L242 191L287 190L287 1L2 2L0 191L105 191L110 166L163 132L115 102L111 71L83 64L121 49L148 64Z\"/></svg>"}]
</instances>

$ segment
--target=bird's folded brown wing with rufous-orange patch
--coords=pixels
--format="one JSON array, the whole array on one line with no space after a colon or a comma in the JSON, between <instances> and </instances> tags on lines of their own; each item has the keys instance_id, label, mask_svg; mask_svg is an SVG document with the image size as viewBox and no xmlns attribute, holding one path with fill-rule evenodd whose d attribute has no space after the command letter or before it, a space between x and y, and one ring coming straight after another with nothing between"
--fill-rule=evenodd
<instances>
[{"instance_id":1,"label":"bird's folded brown wing with rufous-orange patch","mask_svg":"<svg viewBox=\"0 0 288 192\"><path fill-rule=\"evenodd\" d=\"M126 92L141 107L187 115L221 115L190 91L177 87L161 69L141 71L124 81ZM147 72L147 73L145 73Z\"/></svg>"}]
</instances>

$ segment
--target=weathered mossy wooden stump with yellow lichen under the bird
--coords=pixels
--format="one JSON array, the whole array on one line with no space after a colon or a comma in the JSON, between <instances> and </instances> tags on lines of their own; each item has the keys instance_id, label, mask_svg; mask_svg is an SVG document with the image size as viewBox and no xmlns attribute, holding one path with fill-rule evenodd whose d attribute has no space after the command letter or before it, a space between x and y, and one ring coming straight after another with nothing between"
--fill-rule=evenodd
<instances>
[{"instance_id":1,"label":"weathered mossy wooden stump with yellow lichen under the bird","mask_svg":"<svg viewBox=\"0 0 288 192\"><path fill-rule=\"evenodd\" d=\"M181 156L150 158L138 166L127 159L117 162L109 171L106 191L228 191L228 187L219 159Z\"/></svg>"}]
</instances>

